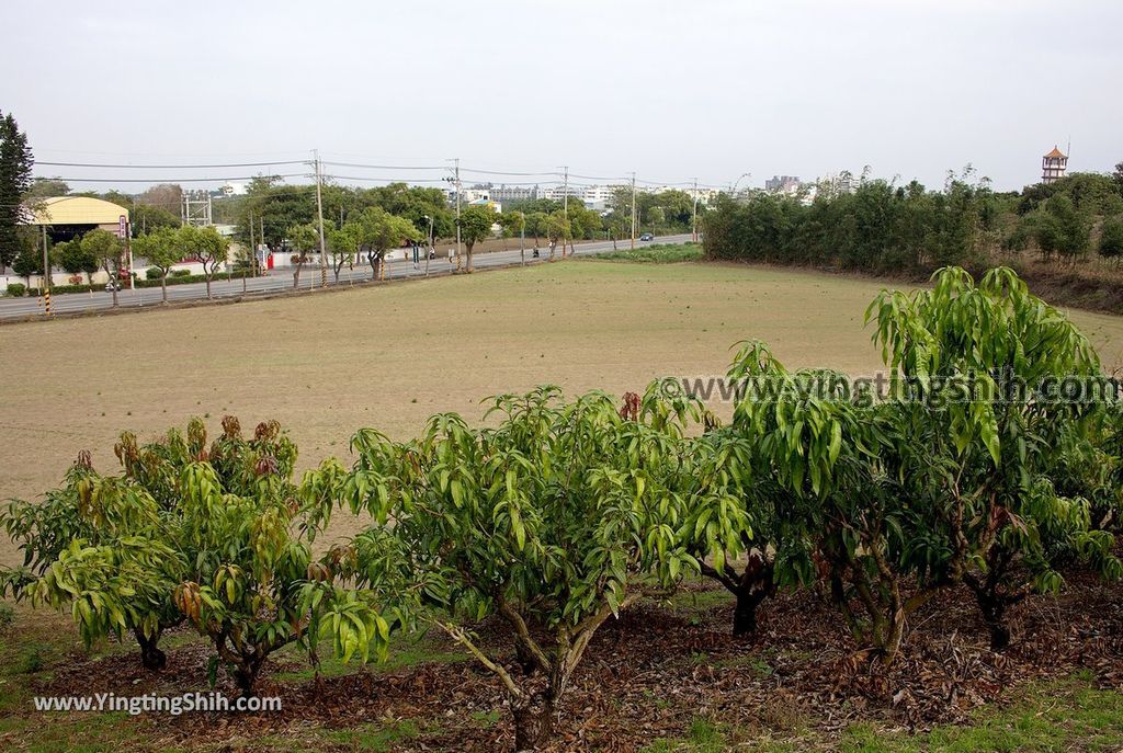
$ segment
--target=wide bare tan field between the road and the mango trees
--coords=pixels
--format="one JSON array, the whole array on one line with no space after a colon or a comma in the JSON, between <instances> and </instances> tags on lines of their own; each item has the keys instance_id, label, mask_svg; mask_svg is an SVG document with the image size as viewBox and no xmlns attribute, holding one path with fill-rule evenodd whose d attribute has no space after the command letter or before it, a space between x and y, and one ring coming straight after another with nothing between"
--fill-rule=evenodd
<instances>
[{"instance_id":1,"label":"wide bare tan field between the road and the mango trees","mask_svg":"<svg viewBox=\"0 0 1123 753\"><path fill-rule=\"evenodd\" d=\"M740 265L569 260L338 293L0 327L0 499L36 497L82 449L116 467L192 415L217 430L276 419L301 466L345 456L351 433L395 438L437 412L475 419L487 395L557 384L641 389L720 375L730 348L770 342L789 367L879 366L862 316L883 283ZM1074 312L1108 366L1123 318ZM728 414L730 406L715 406ZM0 563L15 559L0 541Z\"/></svg>"}]
</instances>

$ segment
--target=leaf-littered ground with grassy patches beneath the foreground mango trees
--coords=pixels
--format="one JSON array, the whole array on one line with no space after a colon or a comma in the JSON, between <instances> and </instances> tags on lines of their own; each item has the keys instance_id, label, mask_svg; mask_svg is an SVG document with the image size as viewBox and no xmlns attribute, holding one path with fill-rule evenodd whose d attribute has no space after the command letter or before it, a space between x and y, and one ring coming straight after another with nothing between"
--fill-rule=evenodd
<instances>
[{"instance_id":1,"label":"leaf-littered ground with grassy patches beneath the foreground mango trees","mask_svg":"<svg viewBox=\"0 0 1123 753\"><path fill-rule=\"evenodd\" d=\"M751 637L730 635L731 610L731 597L704 582L606 622L563 698L549 753L1123 745L1120 587L1090 573L1071 573L1060 597L1034 595L1020 605L1014 643L1001 654L988 650L974 600L948 591L915 615L888 670L855 652L837 613L810 589L766 600ZM475 630L510 669L502 626L485 621ZM156 673L141 669L131 642L91 652L72 637L66 651L58 637L67 632L65 615L21 610L7 631L16 650L0 681L17 685L12 703L0 704L3 750L72 751L79 742L86 751L511 750L502 686L433 632L395 639L384 665L328 660L319 678L295 650L271 658L259 691L281 698L279 713L129 717L40 714L29 696L198 692L207 687L209 654L198 639L182 630L166 635L168 663ZM29 656L39 656L37 669ZM235 692L225 677L219 689Z\"/></svg>"}]
</instances>

